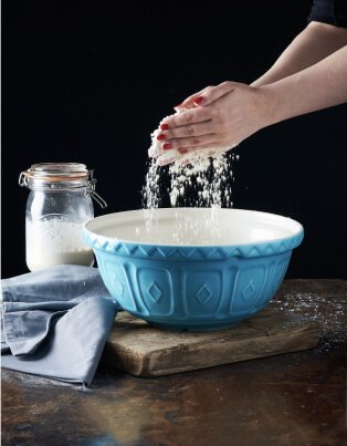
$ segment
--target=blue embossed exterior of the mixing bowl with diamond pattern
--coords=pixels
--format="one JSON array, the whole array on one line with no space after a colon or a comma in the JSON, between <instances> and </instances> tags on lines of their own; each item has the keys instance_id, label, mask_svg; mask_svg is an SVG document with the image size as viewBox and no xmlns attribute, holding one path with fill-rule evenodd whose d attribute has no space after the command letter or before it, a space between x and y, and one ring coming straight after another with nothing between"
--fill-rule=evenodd
<instances>
[{"instance_id":1,"label":"blue embossed exterior of the mixing bowl with diamond pattern","mask_svg":"<svg viewBox=\"0 0 347 446\"><path fill-rule=\"evenodd\" d=\"M172 330L217 330L274 297L303 231L266 243L188 247L111 240L85 231L111 294L129 313Z\"/></svg>"}]
</instances>

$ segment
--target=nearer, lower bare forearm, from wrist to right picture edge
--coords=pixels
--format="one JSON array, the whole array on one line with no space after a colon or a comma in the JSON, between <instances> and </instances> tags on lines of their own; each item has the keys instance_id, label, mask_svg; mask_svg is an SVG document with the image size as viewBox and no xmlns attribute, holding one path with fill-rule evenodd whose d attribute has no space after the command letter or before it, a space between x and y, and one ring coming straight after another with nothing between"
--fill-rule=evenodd
<instances>
[{"instance_id":1,"label":"nearer, lower bare forearm, from wrist to right picture edge","mask_svg":"<svg viewBox=\"0 0 347 446\"><path fill-rule=\"evenodd\" d=\"M347 102L347 45L259 92L266 104L264 126Z\"/></svg>"}]
</instances>

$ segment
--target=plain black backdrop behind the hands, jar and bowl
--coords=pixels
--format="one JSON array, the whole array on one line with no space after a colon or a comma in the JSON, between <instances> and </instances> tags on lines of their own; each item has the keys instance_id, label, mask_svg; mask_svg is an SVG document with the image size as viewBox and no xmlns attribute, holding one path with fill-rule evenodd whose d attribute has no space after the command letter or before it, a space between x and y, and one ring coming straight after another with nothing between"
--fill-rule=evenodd
<instances>
[{"instance_id":1,"label":"plain black backdrop behind the hands, jar and bowl","mask_svg":"<svg viewBox=\"0 0 347 446\"><path fill-rule=\"evenodd\" d=\"M161 117L208 84L252 82L309 9L309 0L2 1L2 276L28 272L21 170L85 163L107 212L139 208ZM236 149L234 207L305 228L287 277L347 278L346 110L290 120Z\"/></svg>"}]
</instances>

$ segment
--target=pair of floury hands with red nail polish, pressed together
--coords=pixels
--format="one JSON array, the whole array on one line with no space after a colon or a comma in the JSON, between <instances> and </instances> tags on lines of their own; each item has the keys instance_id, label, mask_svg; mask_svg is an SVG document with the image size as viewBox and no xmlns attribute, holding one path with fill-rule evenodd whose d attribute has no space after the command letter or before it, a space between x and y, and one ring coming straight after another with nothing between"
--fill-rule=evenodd
<instances>
[{"instance_id":1,"label":"pair of floury hands with red nail polish, pressed together","mask_svg":"<svg viewBox=\"0 0 347 446\"><path fill-rule=\"evenodd\" d=\"M179 113L165 118L156 135L161 147L160 154L156 154L160 165L171 162L165 157L168 151L181 155L227 152L266 125L261 89L236 82L208 86L175 110Z\"/></svg>"}]
</instances>

